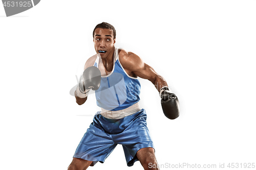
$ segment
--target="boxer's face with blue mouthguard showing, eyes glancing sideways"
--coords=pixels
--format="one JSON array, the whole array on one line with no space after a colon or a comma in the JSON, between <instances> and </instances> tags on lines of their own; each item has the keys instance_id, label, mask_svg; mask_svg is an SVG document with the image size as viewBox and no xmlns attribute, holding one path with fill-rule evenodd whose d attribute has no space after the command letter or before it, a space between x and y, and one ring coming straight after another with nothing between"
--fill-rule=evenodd
<instances>
[{"instance_id":1,"label":"boxer's face with blue mouthguard showing, eyes glancing sideways","mask_svg":"<svg viewBox=\"0 0 256 170\"><path fill-rule=\"evenodd\" d=\"M100 53L101 58L108 56L113 57L114 44L116 39L113 39L113 30L97 28L94 32L94 48L97 53Z\"/></svg>"}]
</instances>

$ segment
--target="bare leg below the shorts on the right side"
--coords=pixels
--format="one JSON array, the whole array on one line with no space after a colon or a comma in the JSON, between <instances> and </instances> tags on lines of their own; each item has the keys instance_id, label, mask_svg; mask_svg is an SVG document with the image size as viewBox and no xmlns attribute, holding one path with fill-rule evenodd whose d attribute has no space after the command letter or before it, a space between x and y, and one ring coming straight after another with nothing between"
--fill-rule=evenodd
<instances>
[{"instance_id":1,"label":"bare leg below the shorts on the right side","mask_svg":"<svg viewBox=\"0 0 256 170\"><path fill-rule=\"evenodd\" d=\"M159 169L153 148L142 148L136 153L136 156L145 170Z\"/></svg>"}]
</instances>

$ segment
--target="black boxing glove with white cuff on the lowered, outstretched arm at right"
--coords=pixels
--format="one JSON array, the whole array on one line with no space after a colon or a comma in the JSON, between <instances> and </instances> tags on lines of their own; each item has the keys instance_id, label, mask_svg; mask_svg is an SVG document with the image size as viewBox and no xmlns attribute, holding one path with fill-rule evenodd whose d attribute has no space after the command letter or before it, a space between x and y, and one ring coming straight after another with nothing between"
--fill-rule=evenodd
<instances>
[{"instance_id":1,"label":"black boxing glove with white cuff on the lowered, outstretched arm at right","mask_svg":"<svg viewBox=\"0 0 256 170\"><path fill-rule=\"evenodd\" d=\"M168 87L162 87L159 95L164 115L169 119L179 117L180 105L177 96L170 92Z\"/></svg>"}]
</instances>

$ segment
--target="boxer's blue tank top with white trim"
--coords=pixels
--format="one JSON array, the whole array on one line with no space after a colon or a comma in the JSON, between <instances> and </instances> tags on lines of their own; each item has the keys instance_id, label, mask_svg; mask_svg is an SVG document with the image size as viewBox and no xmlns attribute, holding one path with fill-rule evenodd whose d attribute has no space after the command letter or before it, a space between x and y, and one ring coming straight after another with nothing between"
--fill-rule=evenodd
<instances>
[{"instance_id":1,"label":"boxer's blue tank top with white trim","mask_svg":"<svg viewBox=\"0 0 256 170\"><path fill-rule=\"evenodd\" d=\"M97 57L94 66L98 67ZM127 75L119 62L118 48L114 51L113 70L108 76L101 76L100 87L95 91L97 106L111 111L122 110L139 102L140 82Z\"/></svg>"}]
</instances>

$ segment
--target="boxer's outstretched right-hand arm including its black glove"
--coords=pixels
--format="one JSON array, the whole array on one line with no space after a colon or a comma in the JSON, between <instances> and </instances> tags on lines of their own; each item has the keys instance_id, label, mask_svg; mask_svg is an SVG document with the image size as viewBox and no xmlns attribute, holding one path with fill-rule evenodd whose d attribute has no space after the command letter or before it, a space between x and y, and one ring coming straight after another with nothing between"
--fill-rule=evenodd
<instances>
[{"instance_id":1,"label":"boxer's outstretched right-hand arm including its black glove","mask_svg":"<svg viewBox=\"0 0 256 170\"><path fill-rule=\"evenodd\" d=\"M128 53L125 62L126 68L132 71L136 76L150 80L157 88L160 97L164 115L169 119L175 119L179 116L180 107L177 96L172 93L165 79L157 74L157 72L142 61L142 59L134 53Z\"/></svg>"}]
</instances>

